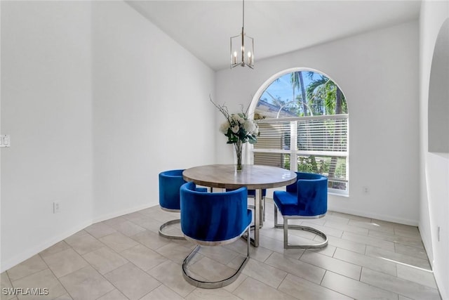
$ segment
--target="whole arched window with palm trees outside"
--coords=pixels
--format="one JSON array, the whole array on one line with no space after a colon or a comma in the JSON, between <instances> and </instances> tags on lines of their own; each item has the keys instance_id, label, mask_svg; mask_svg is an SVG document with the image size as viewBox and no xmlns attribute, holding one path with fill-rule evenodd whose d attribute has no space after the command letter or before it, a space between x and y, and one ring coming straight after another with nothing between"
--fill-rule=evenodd
<instances>
[{"instance_id":1,"label":"whole arched window with palm trees outside","mask_svg":"<svg viewBox=\"0 0 449 300\"><path fill-rule=\"evenodd\" d=\"M324 174L330 192L347 194L348 111L337 84L320 72L298 69L264 86L251 105L260 127L253 162Z\"/></svg>"}]
</instances>

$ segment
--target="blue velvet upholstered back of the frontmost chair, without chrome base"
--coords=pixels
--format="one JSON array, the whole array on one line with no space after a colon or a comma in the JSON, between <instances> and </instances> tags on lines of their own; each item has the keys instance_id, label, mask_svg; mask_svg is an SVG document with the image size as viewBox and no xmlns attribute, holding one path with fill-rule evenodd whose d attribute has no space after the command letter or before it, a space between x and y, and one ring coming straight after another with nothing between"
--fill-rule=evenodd
<instances>
[{"instance_id":1,"label":"blue velvet upholstered back of the frontmost chair, without chrome base","mask_svg":"<svg viewBox=\"0 0 449 300\"><path fill-rule=\"evenodd\" d=\"M225 193L196 190L194 183L182 185L181 230L203 242L222 242L239 237L251 223L246 188Z\"/></svg>"}]
</instances>

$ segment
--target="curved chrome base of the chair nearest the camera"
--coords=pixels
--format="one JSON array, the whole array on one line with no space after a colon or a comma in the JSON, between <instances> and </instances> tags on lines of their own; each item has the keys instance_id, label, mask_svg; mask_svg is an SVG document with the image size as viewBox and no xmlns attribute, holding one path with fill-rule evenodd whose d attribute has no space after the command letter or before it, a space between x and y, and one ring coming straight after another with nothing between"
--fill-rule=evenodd
<instances>
[{"instance_id":1,"label":"curved chrome base of the chair nearest the camera","mask_svg":"<svg viewBox=\"0 0 449 300\"><path fill-rule=\"evenodd\" d=\"M251 226L248 226L248 237L250 236L251 232ZM192 260L192 258L195 256L196 252L198 252L200 245L196 245L195 249L193 249L192 252L182 261L182 275L184 276L185 280L189 282L191 285L194 285L195 287L201 287L203 289L216 289L218 287L225 287L227 285L230 285L232 282L234 282L240 275L243 268L246 266L246 263L248 263L248 260L250 259L250 239L247 239L247 249L246 249L246 257L239 266L239 268L236 270L236 272L231 275L229 278L226 278L224 280L218 280L218 281L203 281L203 280L197 280L195 278L192 278L192 276L187 274L187 266L189 264L189 261Z\"/></svg>"}]
</instances>

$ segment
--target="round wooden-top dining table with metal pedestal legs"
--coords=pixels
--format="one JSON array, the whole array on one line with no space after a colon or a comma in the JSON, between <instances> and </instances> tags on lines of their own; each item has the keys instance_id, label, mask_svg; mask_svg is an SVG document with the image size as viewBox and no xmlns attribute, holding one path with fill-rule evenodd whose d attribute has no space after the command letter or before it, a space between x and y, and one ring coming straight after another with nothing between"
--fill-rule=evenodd
<instances>
[{"instance_id":1,"label":"round wooden-top dining table with metal pedestal legs","mask_svg":"<svg viewBox=\"0 0 449 300\"><path fill-rule=\"evenodd\" d=\"M236 189L246 186L248 190L255 190L255 224L260 224L262 189L296 182L296 173L293 171L258 164L244 164L242 171L236 171L235 164L209 164L186 169L182 177L185 181L211 188ZM259 246L259 226L255 226L253 245Z\"/></svg>"}]
</instances>

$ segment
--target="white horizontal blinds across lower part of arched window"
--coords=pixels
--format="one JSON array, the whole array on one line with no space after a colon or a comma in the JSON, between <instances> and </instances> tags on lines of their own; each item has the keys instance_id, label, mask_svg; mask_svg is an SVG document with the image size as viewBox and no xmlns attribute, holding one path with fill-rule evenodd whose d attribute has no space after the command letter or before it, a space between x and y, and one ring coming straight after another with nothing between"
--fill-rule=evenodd
<instances>
[{"instance_id":1,"label":"white horizontal blinds across lower part of arched window","mask_svg":"<svg viewBox=\"0 0 449 300\"><path fill-rule=\"evenodd\" d=\"M347 190L348 115L257 121L254 163L328 176L329 188ZM297 168L290 166L297 161Z\"/></svg>"}]
</instances>

